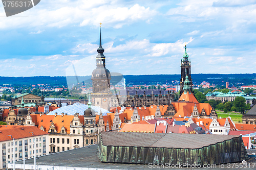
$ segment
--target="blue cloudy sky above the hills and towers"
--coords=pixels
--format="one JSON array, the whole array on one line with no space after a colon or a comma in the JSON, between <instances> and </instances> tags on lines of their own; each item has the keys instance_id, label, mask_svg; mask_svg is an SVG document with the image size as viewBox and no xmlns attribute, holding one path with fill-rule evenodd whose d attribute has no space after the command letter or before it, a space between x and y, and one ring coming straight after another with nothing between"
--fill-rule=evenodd
<instances>
[{"instance_id":1,"label":"blue cloudy sky above the hills and towers","mask_svg":"<svg viewBox=\"0 0 256 170\"><path fill-rule=\"evenodd\" d=\"M255 73L255 16L256 0L44 0L10 17L0 4L0 76L91 75L100 22L111 72L180 74L186 44L192 74Z\"/></svg>"}]
</instances>

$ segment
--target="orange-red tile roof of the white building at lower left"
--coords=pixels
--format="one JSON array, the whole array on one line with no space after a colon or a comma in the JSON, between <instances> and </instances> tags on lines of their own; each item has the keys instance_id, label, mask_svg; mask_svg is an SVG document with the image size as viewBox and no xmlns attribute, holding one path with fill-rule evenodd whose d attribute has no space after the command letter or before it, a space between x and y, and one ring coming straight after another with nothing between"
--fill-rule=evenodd
<instances>
[{"instance_id":1,"label":"orange-red tile roof of the white building at lower left","mask_svg":"<svg viewBox=\"0 0 256 170\"><path fill-rule=\"evenodd\" d=\"M30 132L33 132L33 135ZM22 139L47 134L47 132L38 129L35 126L0 126L0 141L13 140L13 138ZM12 138L8 135L12 135Z\"/></svg>"}]
</instances>

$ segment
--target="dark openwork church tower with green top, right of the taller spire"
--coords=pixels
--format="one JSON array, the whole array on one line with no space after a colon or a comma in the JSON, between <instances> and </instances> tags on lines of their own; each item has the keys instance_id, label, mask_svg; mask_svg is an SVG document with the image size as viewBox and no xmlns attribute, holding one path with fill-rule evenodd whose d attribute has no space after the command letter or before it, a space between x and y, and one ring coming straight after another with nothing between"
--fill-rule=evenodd
<instances>
[{"instance_id":1,"label":"dark openwork church tower with green top, right of the taller spire","mask_svg":"<svg viewBox=\"0 0 256 170\"><path fill-rule=\"evenodd\" d=\"M188 91L191 91L193 93L193 82L191 79L191 65L190 65L190 59L188 61L188 54L187 54L187 47L185 45L185 53L183 54L183 61L181 60L181 77L180 77L180 95L184 91L184 82L186 80L186 76L189 80L189 89Z\"/></svg>"}]
</instances>

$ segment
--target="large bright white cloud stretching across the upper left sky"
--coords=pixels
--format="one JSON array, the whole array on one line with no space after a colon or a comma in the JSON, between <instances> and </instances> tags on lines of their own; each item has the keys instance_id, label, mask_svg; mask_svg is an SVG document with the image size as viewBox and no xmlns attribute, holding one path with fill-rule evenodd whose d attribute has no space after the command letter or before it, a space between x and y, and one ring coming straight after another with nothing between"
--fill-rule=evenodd
<instances>
[{"instance_id":1,"label":"large bright white cloud stretching across the upper left sky","mask_svg":"<svg viewBox=\"0 0 256 170\"><path fill-rule=\"evenodd\" d=\"M2 9L3 10L3 9ZM1 13L1 11L0 11ZM75 26L99 26L121 28L138 20L147 21L156 15L155 10L138 4L125 6L118 1L54 1L40 2L36 7L1 19L0 28L44 28ZM18 16L24 16L20 19ZM40 31L31 32L39 34Z\"/></svg>"}]
</instances>

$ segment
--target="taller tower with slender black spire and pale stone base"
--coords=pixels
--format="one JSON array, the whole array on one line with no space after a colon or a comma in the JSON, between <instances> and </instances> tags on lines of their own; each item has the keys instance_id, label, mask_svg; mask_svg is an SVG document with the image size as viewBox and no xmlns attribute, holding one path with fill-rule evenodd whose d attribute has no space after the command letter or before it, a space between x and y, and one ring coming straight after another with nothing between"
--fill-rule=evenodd
<instances>
[{"instance_id":1,"label":"taller tower with slender black spire and pale stone base","mask_svg":"<svg viewBox=\"0 0 256 170\"><path fill-rule=\"evenodd\" d=\"M92 72L93 93L92 105L99 106L103 109L110 110L111 96L110 91L110 71L105 67L104 48L101 46L101 27L99 28L99 47L97 49L96 68Z\"/></svg>"}]
</instances>

